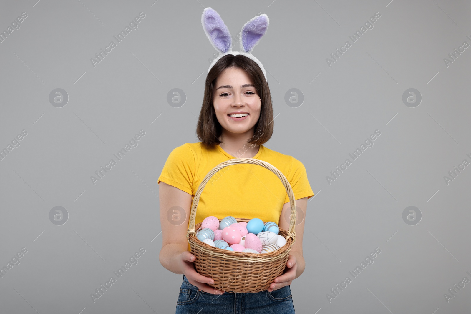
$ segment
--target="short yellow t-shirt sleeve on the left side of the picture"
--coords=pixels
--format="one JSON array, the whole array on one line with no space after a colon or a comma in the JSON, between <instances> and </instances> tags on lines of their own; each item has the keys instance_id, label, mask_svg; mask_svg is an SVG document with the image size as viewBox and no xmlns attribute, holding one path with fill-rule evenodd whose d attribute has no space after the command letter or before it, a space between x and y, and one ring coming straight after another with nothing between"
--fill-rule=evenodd
<instances>
[{"instance_id":1,"label":"short yellow t-shirt sleeve on the left side of the picture","mask_svg":"<svg viewBox=\"0 0 471 314\"><path fill-rule=\"evenodd\" d=\"M163 165L162 173L157 180L193 195L193 178L195 177L195 155L188 144L183 144L171 151Z\"/></svg>"}]
</instances>

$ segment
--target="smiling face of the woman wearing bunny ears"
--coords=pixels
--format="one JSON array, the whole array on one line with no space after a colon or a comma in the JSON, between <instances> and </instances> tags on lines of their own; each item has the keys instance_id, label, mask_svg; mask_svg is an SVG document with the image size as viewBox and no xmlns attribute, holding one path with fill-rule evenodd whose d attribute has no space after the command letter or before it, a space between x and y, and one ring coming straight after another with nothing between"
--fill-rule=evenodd
<instances>
[{"instance_id":1,"label":"smiling face of the woman wearing bunny ears","mask_svg":"<svg viewBox=\"0 0 471 314\"><path fill-rule=\"evenodd\" d=\"M234 67L225 69L216 79L213 95L216 118L223 132L251 133L260 117L261 99L255 86L244 70ZM232 118L231 113L248 113Z\"/></svg>"}]
</instances>

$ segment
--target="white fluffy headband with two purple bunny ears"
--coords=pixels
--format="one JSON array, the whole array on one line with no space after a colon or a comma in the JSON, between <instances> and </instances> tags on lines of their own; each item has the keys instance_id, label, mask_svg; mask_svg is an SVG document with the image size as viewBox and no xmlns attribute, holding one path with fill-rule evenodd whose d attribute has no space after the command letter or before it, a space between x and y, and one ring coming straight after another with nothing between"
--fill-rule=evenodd
<instances>
[{"instance_id":1,"label":"white fluffy headband with two purple bunny ears","mask_svg":"<svg viewBox=\"0 0 471 314\"><path fill-rule=\"evenodd\" d=\"M211 45L219 52L219 56L217 56L209 66L208 72L223 56L229 54L234 56L244 55L255 61L260 66L263 75L265 75L265 80L267 79L267 73L265 73L263 65L252 55L253 47L258 44L262 36L267 32L268 16L266 14L255 16L244 24L239 36L240 51L232 51L231 34L218 12L214 9L205 8L203 10L201 24L203 24L203 30L206 33L206 36L208 36Z\"/></svg>"}]
</instances>

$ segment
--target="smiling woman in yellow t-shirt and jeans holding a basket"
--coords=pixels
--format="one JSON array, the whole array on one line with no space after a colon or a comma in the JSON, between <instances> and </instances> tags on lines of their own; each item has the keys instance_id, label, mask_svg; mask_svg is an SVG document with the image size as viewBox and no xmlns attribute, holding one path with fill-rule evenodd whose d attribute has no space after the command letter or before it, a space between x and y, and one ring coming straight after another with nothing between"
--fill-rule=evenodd
<instances>
[{"instance_id":1,"label":"smiling woman in yellow t-shirt and jeans holding a basket","mask_svg":"<svg viewBox=\"0 0 471 314\"><path fill-rule=\"evenodd\" d=\"M234 117L234 113L242 116ZM242 55L220 58L206 77L197 124L201 142L175 148L158 179L162 225L159 260L171 272L183 274L176 313L198 313L202 309L200 313L294 313L290 284L305 267L304 221L296 221L296 241L284 274L268 290L258 293L229 293L209 286L213 280L195 271L195 256L186 238L193 195L200 182L216 165L231 158L256 158L279 169L292 186L297 217L305 217L307 200L314 196L306 169L292 156L263 146L273 133L273 124L270 90L260 67ZM259 165L232 165L219 170L204 187L195 225L208 216L257 217L288 230L290 209L286 190L273 172Z\"/></svg>"}]
</instances>

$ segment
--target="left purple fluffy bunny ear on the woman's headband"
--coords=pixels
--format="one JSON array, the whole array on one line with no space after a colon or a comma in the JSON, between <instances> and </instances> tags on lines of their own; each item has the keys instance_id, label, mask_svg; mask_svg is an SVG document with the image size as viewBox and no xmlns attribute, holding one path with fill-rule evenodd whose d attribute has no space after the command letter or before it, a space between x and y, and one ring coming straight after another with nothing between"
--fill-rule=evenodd
<instances>
[{"instance_id":1,"label":"left purple fluffy bunny ear on the woman's headband","mask_svg":"<svg viewBox=\"0 0 471 314\"><path fill-rule=\"evenodd\" d=\"M231 49L231 34L218 12L212 8L205 8L201 16L201 24L211 45L216 48L219 53L226 53Z\"/></svg>"}]
</instances>

